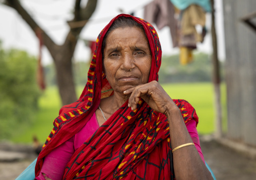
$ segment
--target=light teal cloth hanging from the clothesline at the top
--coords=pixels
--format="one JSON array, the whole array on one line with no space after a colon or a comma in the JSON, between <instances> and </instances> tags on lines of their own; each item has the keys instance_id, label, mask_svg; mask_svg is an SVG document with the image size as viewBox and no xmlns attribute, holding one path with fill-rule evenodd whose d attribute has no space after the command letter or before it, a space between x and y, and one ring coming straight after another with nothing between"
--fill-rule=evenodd
<instances>
[{"instance_id":1,"label":"light teal cloth hanging from the clothesline at the top","mask_svg":"<svg viewBox=\"0 0 256 180\"><path fill-rule=\"evenodd\" d=\"M184 10L190 5L196 4L201 6L206 12L211 12L210 0L170 0L179 10Z\"/></svg>"}]
</instances>

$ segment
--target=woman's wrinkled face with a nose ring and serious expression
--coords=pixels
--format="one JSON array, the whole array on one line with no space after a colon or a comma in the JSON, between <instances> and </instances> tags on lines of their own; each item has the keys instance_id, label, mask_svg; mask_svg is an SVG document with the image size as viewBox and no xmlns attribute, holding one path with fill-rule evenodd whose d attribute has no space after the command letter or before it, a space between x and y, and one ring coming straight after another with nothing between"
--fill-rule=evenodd
<instances>
[{"instance_id":1,"label":"woman's wrinkled face with a nose ring and serious expression","mask_svg":"<svg viewBox=\"0 0 256 180\"><path fill-rule=\"evenodd\" d=\"M115 92L147 83L151 59L148 40L140 28L117 28L107 36L104 72Z\"/></svg>"}]
</instances>

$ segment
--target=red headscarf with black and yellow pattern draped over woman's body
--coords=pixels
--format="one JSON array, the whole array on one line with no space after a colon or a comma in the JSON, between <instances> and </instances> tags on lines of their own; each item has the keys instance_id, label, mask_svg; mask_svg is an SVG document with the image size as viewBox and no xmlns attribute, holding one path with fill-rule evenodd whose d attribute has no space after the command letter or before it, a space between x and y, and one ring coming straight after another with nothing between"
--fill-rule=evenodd
<instances>
[{"instance_id":1,"label":"red headscarf with black and yellow pattern draped over woman's body","mask_svg":"<svg viewBox=\"0 0 256 180\"><path fill-rule=\"evenodd\" d=\"M36 176L43 157L74 136L91 118L100 99L111 96L111 89L102 72L103 38L119 17L131 17L142 24L152 53L149 82L158 80L161 46L154 27L143 19L118 15L101 31L88 72L88 82L79 100L63 106L54 120L50 135L38 156ZM184 121L198 121L195 109L184 100L174 100ZM140 100L134 111L126 101L99 129L87 139L67 164L63 179L173 179L169 124L164 114L152 110Z\"/></svg>"}]
</instances>

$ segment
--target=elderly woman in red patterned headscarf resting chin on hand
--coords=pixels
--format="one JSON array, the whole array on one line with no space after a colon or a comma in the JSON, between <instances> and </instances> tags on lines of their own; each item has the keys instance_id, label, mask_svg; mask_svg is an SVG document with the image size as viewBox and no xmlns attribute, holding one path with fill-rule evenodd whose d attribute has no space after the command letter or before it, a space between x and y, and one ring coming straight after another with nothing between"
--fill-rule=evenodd
<instances>
[{"instance_id":1,"label":"elderly woman in red patterned headscarf resting chin on hand","mask_svg":"<svg viewBox=\"0 0 256 180\"><path fill-rule=\"evenodd\" d=\"M36 179L212 179L195 109L157 82L162 52L153 26L118 15L96 46L80 99L54 120Z\"/></svg>"}]
</instances>

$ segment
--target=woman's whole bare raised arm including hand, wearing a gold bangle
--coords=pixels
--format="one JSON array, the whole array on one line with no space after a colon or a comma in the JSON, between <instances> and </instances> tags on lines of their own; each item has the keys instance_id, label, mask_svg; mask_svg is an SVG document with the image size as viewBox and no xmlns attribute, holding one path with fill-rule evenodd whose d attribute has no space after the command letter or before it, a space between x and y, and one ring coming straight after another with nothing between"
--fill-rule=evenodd
<instances>
[{"instance_id":1,"label":"woman's whole bare raised arm including hand, wearing a gold bangle","mask_svg":"<svg viewBox=\"0 0 256 180\"><path fill-rule=\"evenodd\" d=\"M139 85L123 93L131 94L129 107L132 110L136 108L141 97L152 109L166 115L170 127L172 149L193 142L179 108L157 81ZM213 179L194 145L175 150L173 166L176 179Z\"/></svg>"}]
</instances>

